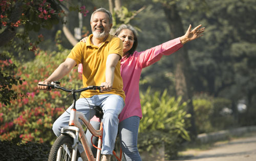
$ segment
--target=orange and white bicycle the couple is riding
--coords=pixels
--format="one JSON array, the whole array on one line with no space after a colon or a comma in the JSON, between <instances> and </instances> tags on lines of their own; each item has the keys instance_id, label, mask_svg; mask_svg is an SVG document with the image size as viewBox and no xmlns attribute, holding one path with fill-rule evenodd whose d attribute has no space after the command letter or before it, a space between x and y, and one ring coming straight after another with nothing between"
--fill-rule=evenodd
<instances>
[{"instance_id":1,"label":"orange and white bicycle the couple is riding","mask_svg":"<svg viewBox=\"0 0 256 161\"><path fill-rule=\"evenodd\" d=\"M90 130L90 132L93 134L93 136L99 137L98 139L98 145L95 146L97 148L97 154L96 154L96 161L100 160L100 152L101 152L101 146L102 146L102 134L103 134L103 129L102 129L102 122L100 123L100 129L96 130L94 127L90 124L90 121L88 121L81 112L76 111L76 93L80 93L85 90L93 89L93 90L99 90L100 87L102 86L88 86L86 88L81 88L81 89L68 89L65 87L61 87L60 83L55 81L51 82L49 85L45 84L38 84L38 85L44 85L48 86L49 89L61 89L63 91L69 92L73 96L73 106L71 108L70 112L70 121L69 121L69 126L61 128L61 135L57 137L57 139L54 141L48 161L53 161L53 160L70 160L70 161L75 161L78 160L79 152L77 153L77 147L79 142L82 143L83 149L86 152L86 155L88 157L89 161L94 161L94 155L92 153L91 148L89 147L88 141L85 137L85 132L82 128L82 125L78 121L80 119L83 123L84 126ZM96 110L96 117L99 117L101 120L103 117L103 111L100 107L95 106L93 107ZM92 136L92 139L93 139ZM91 142L92 142L91 139ZM92 142L93 144L93 142ZM118 154L119 153L119 154ZM115 157L113 157L113 155ZM112 160L122 160L122 150L120 148L120 145L115 143L115 148L113 151L112 155Z\"/></svg>"}]
</instances>

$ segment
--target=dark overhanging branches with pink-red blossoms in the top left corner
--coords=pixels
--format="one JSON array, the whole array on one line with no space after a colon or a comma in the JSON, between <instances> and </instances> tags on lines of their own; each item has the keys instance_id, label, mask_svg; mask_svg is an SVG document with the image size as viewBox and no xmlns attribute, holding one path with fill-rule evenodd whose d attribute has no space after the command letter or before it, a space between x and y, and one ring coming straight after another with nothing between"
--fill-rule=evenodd
<instances>
[{"instance_id":1,"label":"dark overhanging branches with pink-red blossoms in the top left corner","mask_svg":"<svg viewBox=\"0 0 256 161\"><path fill-rule=\"evenodd\" d=\"M60 8L60 1L54 0L17 0L1 2L0 47L10 42L15 36L24 38L28 32L38 32L40 28L51 29L65 16ZM17 28L23 28L22 35L17 35Z\"/></svg>"}]
</instances>

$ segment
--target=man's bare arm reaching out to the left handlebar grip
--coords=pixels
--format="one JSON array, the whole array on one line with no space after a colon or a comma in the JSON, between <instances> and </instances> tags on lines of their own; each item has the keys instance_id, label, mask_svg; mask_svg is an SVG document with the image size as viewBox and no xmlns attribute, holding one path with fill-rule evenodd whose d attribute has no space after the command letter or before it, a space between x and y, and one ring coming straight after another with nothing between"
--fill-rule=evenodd
<instances>
[{"instance_id":1,"label":"man's bare arm reaching out to the left handlebar grip","mask_svg":"<svg viewBox=\"0 0 256 161\"><path fill-rule=\"evenodd\" d=\"M56 70L51 74L50 77L48 77L45 81L39 82L38 84L50 84L52 81L57 81L61 78L63 78L64 76L66 76L68 73L70 73L70 71L72 70L72 68L76 65L75 60L71 59L71 58L67 58L64 62L62 62L57 68ZM48 89L47 86L41 86L41 85L37 85L37 87L39 89L43 89L46 90Z\"/></svg>"}]
</instances>

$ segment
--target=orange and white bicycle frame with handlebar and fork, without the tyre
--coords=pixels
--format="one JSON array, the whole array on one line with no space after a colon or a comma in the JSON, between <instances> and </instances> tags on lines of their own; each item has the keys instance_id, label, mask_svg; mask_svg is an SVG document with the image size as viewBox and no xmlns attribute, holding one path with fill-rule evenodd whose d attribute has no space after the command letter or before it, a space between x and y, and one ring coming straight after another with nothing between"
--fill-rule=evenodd
<instances>
[{"instance_id":1,"label":"orange and white bicycle frame with handlebar and fork, without the tyre","mask_svg":"<svg viewBox=\"0 0 256 161\"><path fill-rule=\"evenodd\" d=\"M38 84L38 85L44 85L44 84ZM99 141L98 141L98 147L97 148L97 156L96 156L96 161L100 161L100 151L101 151L101 146L102 146L102 134L103 134L103 129L102 129L102 123L100 125L100 129L96 130L94 129L94 127L90 124L90 122L87 120L86 117L84 117L83 113L76 111L75 105L76 105L76 95L75 93L79 93L81 91L87 90L87 89L100 89L99 87L101 86L89 86L87 88L82 88L82 89L78 89L78 90L74 90L74 89L67 89L64 87L60 87L59 86L59 82L52 82L51 85L46 85L48 87L51 88L58 88L67 92L70 92L73 95L73 106L71 108L71 112L70 112L70 120L69 120L69 126L67 127L63 127L61 128L61 135L69 135L70 137L73 138L73 145L72 145L72 149L73 149L73 153L72 153L72 161L76 160L76 155L77 155L77 148L78 148L78 143L79 143L79 139L80 142L83 146L84 152L86 152L86 155L88 157L89 161L95 161L92 150L89 146L89 143L86 139L86 136L84 135L84 130L82 128L81 123L78 121L78 119L80 119L82 121L82 123L84 124L84 126L87 127L87 129L93 134L93 136L99 137ZM66 150L67 153L68 150ZM60 159L60 150L58 150L57 152L57 160ZM118 160L121 160L122 155L121 155L122 151L120 150L120 158L115 154L115 151L113 151L113 155L115 155L115 157Z\"/></svg>"}]
</instances>

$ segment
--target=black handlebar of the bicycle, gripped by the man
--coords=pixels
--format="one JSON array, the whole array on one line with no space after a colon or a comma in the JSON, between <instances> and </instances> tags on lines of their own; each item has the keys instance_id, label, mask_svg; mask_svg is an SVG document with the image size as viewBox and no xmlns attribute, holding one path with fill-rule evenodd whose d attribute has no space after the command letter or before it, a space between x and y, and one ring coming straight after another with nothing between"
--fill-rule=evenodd
<instances>
[{"instance_id":1,"label":"black handlebar of the bicycle, gripped by the man","mask_svg":"<svg viewBox=\"0 0 256 161\"><path fill-rule=\"evenodd\" d=\"M68 88L59 86L59 84L60 84L59 82L51 82L51 84L38 84L38 85L48 86L48 89L58 88L58 89L61 89L61 90L64 90L64 91L67 91L67 92L70 92L70 93L72 93L72 92L73 93L80 93L81 91L89 90L89 89L98 90L98 89L100 89L100 87L103 87L103 86L92 85L92 86L88 86L88 87L81 88L81 89L68 89Z\"/></svg>"}]
</instances>

